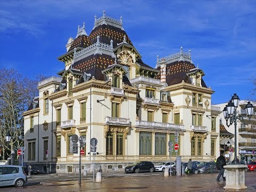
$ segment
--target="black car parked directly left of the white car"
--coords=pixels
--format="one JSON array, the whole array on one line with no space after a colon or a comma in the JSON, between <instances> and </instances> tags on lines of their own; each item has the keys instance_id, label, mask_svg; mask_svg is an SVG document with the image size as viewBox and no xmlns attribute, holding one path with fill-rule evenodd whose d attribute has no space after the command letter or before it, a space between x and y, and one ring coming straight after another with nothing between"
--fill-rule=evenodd
<instances>
[{"instance_id":1,"label":"black car parked directly left of the white car","mask_svg":"<svg viewBox=\"0 0 256 192\"><path fill-rule=\"evenodd\" d=\"M129 166L126 166L124 169L125 173L139 173L139 172L147 172L150 173L155 171L155 166L150 161L140 161L134 162Z\"/></svg>"}]
</instances>

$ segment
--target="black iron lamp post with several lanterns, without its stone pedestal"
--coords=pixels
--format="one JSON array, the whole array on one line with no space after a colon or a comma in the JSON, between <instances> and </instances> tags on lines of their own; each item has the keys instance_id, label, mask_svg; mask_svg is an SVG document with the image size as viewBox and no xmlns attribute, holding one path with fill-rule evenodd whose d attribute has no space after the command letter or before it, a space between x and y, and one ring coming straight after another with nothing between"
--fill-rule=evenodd
<instances>
[{"instance_id":1,"label":"black iron lamp post with several lanterns, without its stone pedestal","mask_svg":"<svg viewBox=\"0 0 256 192\"><path fill-rule=\"evenodd\" d=\"M235 125L235 158L237 157L237 155L236 155L236 151L237 151L236 150L236 148L237 148L237 145L236 145L237 119L239 121L241 121L242 123L244 123L244 118L241 115L239 115L239 111L237 111L238 106L239 106L239 97L238 97L238 95L236 95L236 93L234 93L233 97L228 102L228 105L226 105L226 107L224 107L224 109L223 109L223 115L224 115L224 118L226 119L227 126L229 127L233 123ZM252 103L250 103L250 101L248 101L248 103L245 105L245 111L246 111L247 117L249 118L249 124L250 124L251 117L253 114L253 105L252 105ZM237 164L237 163L238 162L234 161L234 164Z\"/></svg>"}]
</instances>

